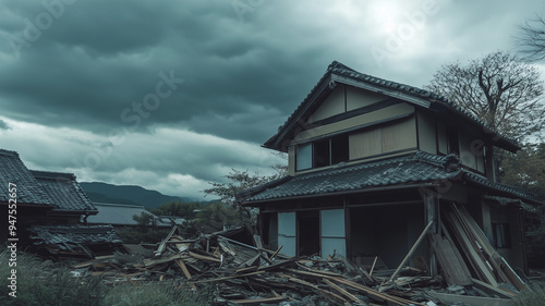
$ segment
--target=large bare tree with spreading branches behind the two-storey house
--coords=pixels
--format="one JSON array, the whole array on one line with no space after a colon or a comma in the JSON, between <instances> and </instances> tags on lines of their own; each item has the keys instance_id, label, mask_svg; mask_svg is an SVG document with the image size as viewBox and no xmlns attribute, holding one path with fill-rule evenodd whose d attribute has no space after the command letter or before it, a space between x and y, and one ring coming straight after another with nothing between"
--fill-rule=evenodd
<instances>
[{"instance_id":1,"label":"large bare tree with spreading branches behind the two-storey house","mask_svg":"<svg viewBox=\"0 0 545 306\"><path fill-rule=\"evenodd\" d=\"M507 52L489 53L467 65L443 65L424 87L510 138L524 142L543 133L541 74L535 66Z\"/></svg>"}]
</instances>

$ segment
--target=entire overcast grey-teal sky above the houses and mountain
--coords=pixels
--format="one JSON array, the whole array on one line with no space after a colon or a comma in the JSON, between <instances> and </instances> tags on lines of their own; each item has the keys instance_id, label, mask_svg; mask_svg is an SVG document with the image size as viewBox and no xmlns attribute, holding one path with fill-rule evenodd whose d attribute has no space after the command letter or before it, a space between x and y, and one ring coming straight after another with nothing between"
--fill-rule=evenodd
<instances>
[{"instance_id":1,"label":"entire overcast grey-teal sky above the houses and mountain","mask_svg":"<svg viewBox=\"0 0 545 306\"><path fill-rule=\"evenodd\" d=\"M514 51L544 1L0 2L0 148L80 182L202 199L270 173L272 136L337 60L422 87ZM211 198L205 198L211 199Z\"/></svg>"}]
</instances>

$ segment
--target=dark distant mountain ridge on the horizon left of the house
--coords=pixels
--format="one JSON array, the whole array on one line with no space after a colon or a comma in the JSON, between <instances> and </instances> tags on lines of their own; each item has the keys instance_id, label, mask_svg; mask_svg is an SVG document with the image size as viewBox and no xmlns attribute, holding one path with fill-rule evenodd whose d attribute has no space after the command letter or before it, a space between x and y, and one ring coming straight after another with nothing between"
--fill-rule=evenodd
<instances>
[{"instance_id":1,"label":"dark distant mountain ridge on the horizon left of the house","mask_svg":"<svg viewBox=\"0 0 545 306\"><path fill-rule=\"evenodd\" d=\"M80 183L80 185L95 203L143 205L146 208L155 209L161 204L173 200L194 201L192 198L168 196L141 186L112 185L100 182Z\"/></svg>"}]
</instances>

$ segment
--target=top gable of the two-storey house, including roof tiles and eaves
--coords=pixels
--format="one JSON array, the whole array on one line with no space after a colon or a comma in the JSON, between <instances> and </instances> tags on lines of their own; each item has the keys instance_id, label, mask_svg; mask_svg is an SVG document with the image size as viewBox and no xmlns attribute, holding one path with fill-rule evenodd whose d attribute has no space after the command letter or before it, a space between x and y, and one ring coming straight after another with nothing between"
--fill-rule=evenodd
<instances>
[{"instance_id":1,"label":"top gable of the two-storey house, including roof tiles and eaves","mask_svg":"<svg viewBox=\"0 0 545 306\"><path fill-rule=\"evenodd\" d=\"M363 94L362 94L363 93ZM280 151L288 151L288 145L301 131L347 119L346 114L353 114L359 109L368 109L384 101L405 102L413 107L429 109L434 113L441 113L457 124L471 125L481 131L480 137L492 145L516 152L520 149L512 139L498 135L495 131L457 107L445 97L416 87L382 79L354 71L334 61L295 111L278 128L278 133L263 145ZM484 132L483 132L484 131Z\"/></svg>"}]
</instances>

